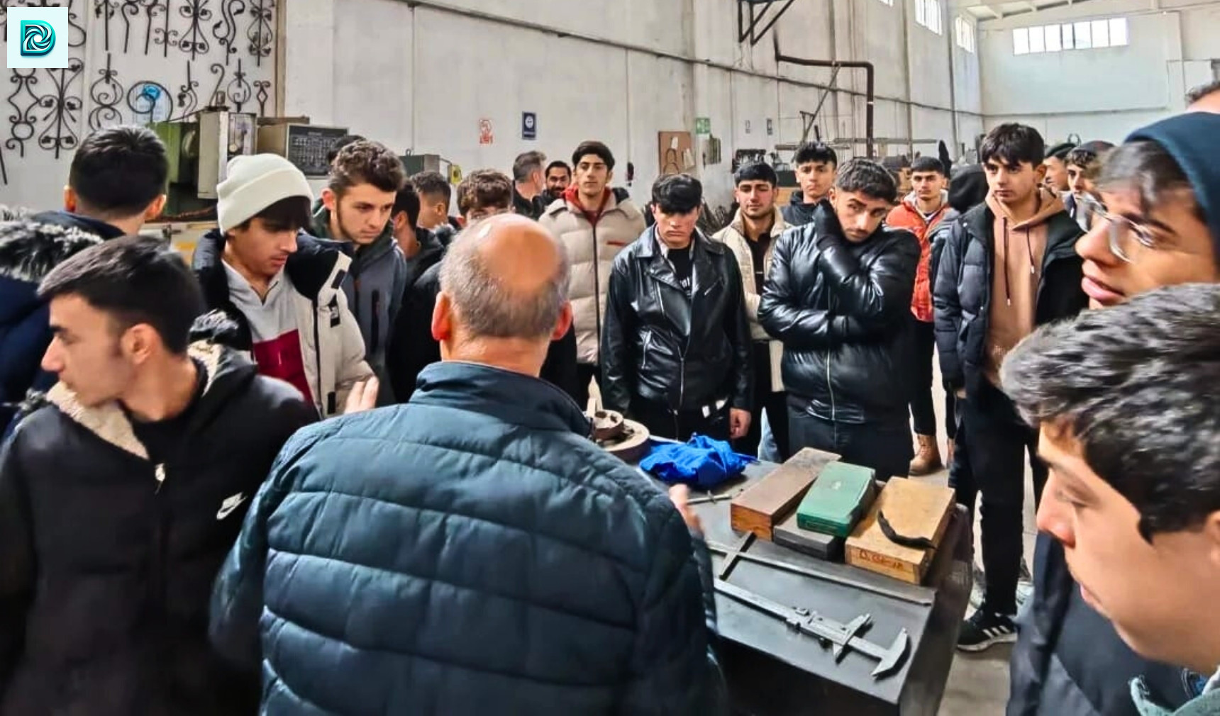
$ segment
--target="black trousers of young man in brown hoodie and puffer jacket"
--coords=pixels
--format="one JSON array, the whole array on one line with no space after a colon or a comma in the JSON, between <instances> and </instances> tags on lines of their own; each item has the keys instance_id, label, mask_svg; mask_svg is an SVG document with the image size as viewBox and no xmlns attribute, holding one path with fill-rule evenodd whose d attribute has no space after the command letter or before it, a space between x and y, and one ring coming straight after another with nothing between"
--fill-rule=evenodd
<instances>
[{"instance_id":1,"label":"black trousers of young man in brown hoodie and puffer jacket","mask_svg":"<svg viewBox=\"0 0 1220 716\"><path fill-rule=\"evenodd\" d=\"M982 609L1016 614L1016 582L1025 544L1025 456L1030 454L1033 499L1042 501L1047 467L1036 457L1038 433L1021 422L1013 401L987 381L978 395L959 400L956 449L949 487L970 510L982 493L981 532L987 590Z\"/></svg>"}]
</instances>

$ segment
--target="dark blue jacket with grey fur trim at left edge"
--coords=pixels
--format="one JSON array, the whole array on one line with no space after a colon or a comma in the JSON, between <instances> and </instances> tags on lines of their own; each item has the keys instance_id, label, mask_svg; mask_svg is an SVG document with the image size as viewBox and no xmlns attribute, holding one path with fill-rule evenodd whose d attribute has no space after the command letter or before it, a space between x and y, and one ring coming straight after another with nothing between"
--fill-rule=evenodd
<instances>
[{"instance_id":1,"label":"dark blue jacket with grey fur trim at left edge","mask_svg":"<svg viewBox=\"0 0 1220 716\"><path fill-rule=\"evenodd\" d=\"M118 235L107 223L66 211L0 207L0 433L28 390L55 383L39 367L51 332L38 283L73 254Z\"/></svg>"}]
</instances>

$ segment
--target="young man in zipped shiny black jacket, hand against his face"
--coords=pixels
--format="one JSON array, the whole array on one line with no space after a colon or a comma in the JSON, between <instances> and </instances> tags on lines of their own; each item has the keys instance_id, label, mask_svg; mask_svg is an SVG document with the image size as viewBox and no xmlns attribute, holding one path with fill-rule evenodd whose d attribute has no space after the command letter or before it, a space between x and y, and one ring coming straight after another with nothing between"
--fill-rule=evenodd
<instances>
[{"instance_id":1,"label":"young man in zipped shiny black jacket, hand against his face","mask_svg":"<svg viewBox=\"0 0 1220 716\"><path fill-rule=\"evenodd\" d=\"M792 451L828 450L886 479L906 474L911 293L919 240L882 221L898 198L881 165L853 160L814 220L780 237L759 322L783 342Z\"/></svg>"}]
</instances>

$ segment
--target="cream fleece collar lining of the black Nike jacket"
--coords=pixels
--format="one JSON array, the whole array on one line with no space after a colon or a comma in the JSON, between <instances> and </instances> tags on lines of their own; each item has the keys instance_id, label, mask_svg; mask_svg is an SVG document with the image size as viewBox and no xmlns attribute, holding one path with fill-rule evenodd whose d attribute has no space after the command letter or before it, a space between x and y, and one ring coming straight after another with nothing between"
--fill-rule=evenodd
<instances>
[{"instance_id":1,"label":"cream fleece collar lining of the black Nike jacket","mask_svg":"<svg viewBox=\"0 0 1220 716\"><path fill-rule=\"evenodd\" d=\"M216 343L200 340L190 344L187 353L206 373L200 398L203 410L195 416L199 421L206 420L210 411L223 406L229 389L237 388L234 378L253 378L257 372L249 360ZM220 389L222 385L229 389ZM131 420L117 401L88 407L77 399L76 392L63 383L56 383L46 393L46 401L98 438L142 460L149 459L148 449L135 437Z\"/></svg>"}]
</instances>

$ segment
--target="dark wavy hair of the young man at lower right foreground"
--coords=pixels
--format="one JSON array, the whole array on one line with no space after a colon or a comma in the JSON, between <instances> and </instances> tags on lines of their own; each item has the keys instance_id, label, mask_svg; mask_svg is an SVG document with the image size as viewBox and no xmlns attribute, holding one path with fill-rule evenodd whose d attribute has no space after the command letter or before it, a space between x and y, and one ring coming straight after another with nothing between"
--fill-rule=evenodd
<instances>
[{"instance_id":1,"label":"dark wavy hair of the young man at lower right foreground","mask_svg":"<svg viewBox=\"0 0 1220 716\"><path fill-rule=\"evenodd\" d=\"M1004 392L1064 431L1139 512L1139 534L1220 510L1220 284L1160 288L1039 328L1006 357Z\"/></svg>"}]
</instances>

